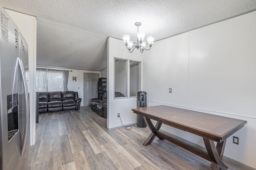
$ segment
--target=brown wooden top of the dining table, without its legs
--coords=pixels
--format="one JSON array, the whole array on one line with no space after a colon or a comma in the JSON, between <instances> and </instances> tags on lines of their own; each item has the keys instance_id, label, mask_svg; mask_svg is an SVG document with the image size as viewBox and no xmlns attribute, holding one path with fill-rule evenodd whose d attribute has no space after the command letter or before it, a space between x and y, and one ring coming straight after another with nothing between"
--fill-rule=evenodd
<instances>
[{"instance_id":1,"label":"brown wooden top of the dining table, without its legs","mask_svg":"<svg viewBox=\"0 0 256 170\"><path fill-rule=\"evenodd\" d=\"M222 142L247 123L240 119L163 105L140 107L132 111L216 142Z\"/></svg>"}]
</instances>

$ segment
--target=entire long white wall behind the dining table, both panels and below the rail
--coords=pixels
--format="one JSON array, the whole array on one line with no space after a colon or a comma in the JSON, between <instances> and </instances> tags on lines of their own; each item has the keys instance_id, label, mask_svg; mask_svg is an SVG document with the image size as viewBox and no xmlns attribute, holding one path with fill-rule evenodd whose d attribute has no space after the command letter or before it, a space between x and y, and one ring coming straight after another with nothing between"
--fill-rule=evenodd
<instances>
[{"instance_id":1,"label":"entire long white wall behind the dining table, both panels and below the rail","mask_svg":"<svg viewBox=\"0 0 256 170\"><path fill-rule=\"evenodd\" d=\"M143 55L148 106L167 105L243 119L224 156L256 168L256 12L157 41ZM149 72L147 72L149 70ZM172 88L172 93L168 89ZM201 137L162 126L204 146Z\"/></svg>"}]
</instances>

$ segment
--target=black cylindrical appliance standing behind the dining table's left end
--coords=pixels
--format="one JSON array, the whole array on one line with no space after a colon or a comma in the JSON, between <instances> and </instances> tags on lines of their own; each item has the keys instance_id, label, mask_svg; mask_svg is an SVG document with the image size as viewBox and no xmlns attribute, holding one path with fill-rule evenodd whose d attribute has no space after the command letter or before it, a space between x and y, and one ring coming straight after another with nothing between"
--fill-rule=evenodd
<instances>
[{"instance_id":1,"label":"black cylindrical appliance standing behind the dining table's left end","mask_svg":"<svg viewBox=\"0 0 256 170\"><path fill-rule=\"evenodd\" d=\"M138 92L137 100L138 100L137 108L147 107L147 92ZM137 127L147 127L147 124L143 119L142 115L137 115Z\"/></svg>"}]
</instances>

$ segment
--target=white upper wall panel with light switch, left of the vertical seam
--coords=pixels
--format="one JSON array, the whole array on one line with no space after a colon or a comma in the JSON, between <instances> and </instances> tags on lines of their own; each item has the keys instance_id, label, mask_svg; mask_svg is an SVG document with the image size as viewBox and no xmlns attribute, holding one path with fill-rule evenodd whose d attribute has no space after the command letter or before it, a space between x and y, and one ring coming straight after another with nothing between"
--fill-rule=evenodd
<instances>
[{"instance_id":1,"label":"white upper wall panel with light switch, left of the vertical seam","mask_svg":"<svg viewBox=\"0 0 256 170\"><path fill-rule=\"evenodd\" d=\"M155 42L149 53L150 101L187 106L188 33Z\"/></svg>"}]
</instances>

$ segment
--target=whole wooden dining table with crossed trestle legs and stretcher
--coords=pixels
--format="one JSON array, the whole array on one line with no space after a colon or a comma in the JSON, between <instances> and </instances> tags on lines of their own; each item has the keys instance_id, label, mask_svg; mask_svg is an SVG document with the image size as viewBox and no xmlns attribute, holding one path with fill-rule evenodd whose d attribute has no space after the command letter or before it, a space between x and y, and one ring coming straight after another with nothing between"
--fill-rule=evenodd
<instances>
[{"instance_id":1,"label":"whole wooden dining table with crossed trestle legs and stretcher","mask_svg":"<svg viewBox=\"0 0 256 170\"><path fill-rule=\"evenodd\" d=\"M143 145L146 146L152 143L156 136L159 139L166 139L211 161L210 170L216 170L217 168L221 170L228 169L222 161L226 139L247 123L247 121L240 119L163 105L134 108L132 111L142 115L152 131ZM151 119L157 121L155 126ZM164 131L159 131L162 123L202 137L207 152L171 137ZM216 145L214 141L217 142Z\"/></svg>"}]
</instances>

